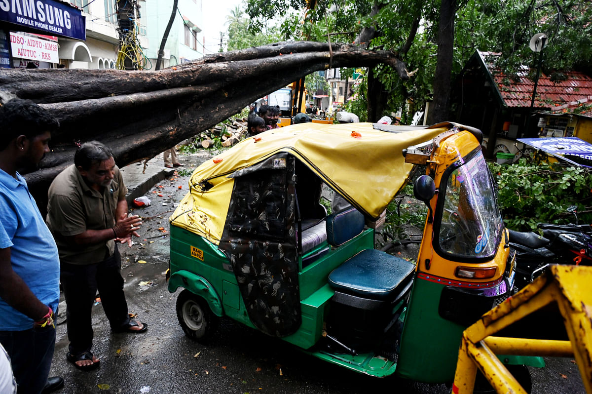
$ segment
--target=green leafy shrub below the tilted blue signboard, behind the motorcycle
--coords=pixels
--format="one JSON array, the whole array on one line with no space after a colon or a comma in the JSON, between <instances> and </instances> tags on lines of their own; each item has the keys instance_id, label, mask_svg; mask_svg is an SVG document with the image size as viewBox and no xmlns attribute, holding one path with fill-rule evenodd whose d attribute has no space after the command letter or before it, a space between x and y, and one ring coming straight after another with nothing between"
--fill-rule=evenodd
<instances>
[{"instance_id":1,"label":"green leafy shrub below the tilted blue signboard, behind the motorcycle","mask_svg":"<svg viewBox=\"0 0 592 394\"><path fill-rule=\"evenodd\" d=\"M508 228L535 230L537 223L573 223L567 212L577 206L580 223L592 223L592 169L560 163L489 163L498 184L498 204Z\"/></svg>"}]
</instances>

